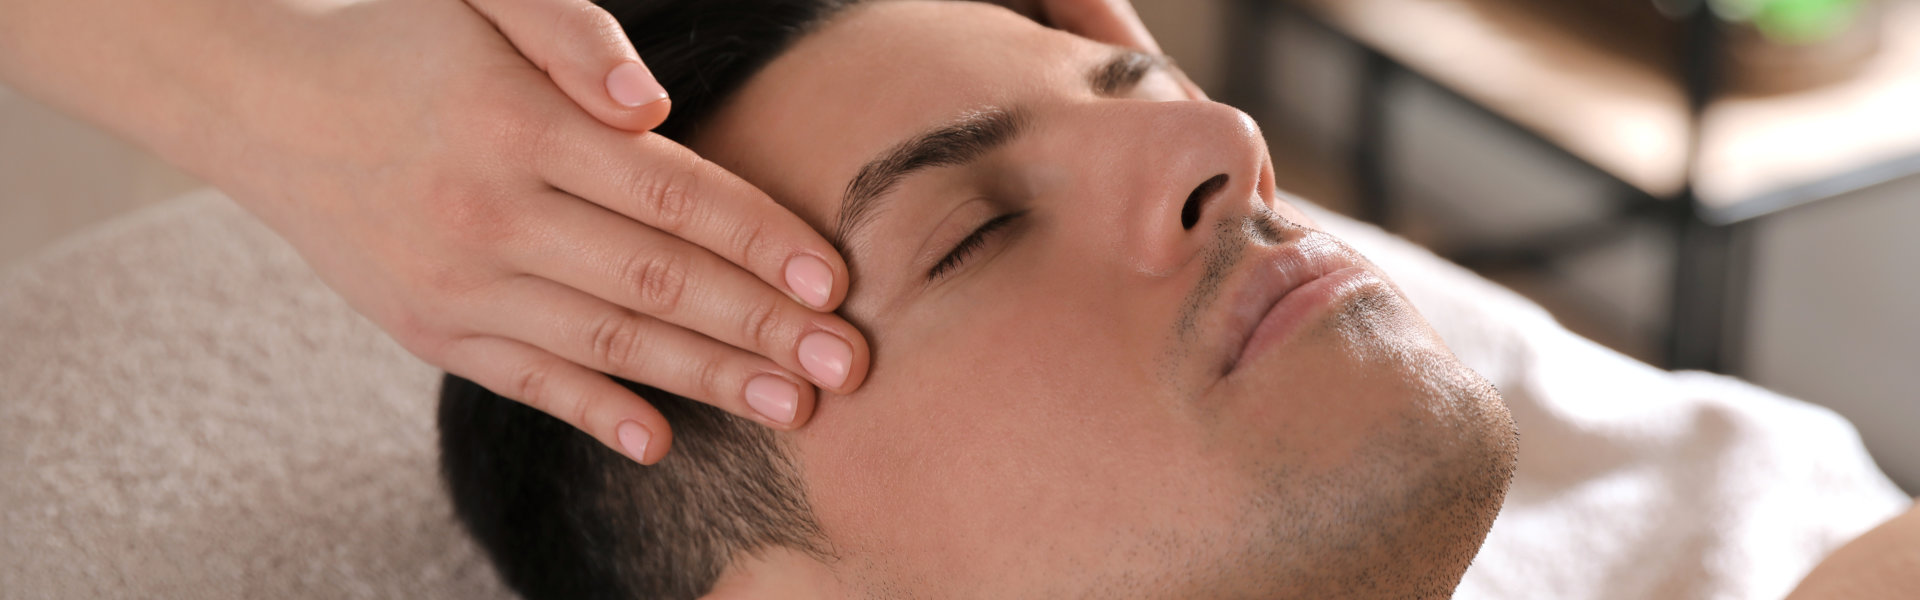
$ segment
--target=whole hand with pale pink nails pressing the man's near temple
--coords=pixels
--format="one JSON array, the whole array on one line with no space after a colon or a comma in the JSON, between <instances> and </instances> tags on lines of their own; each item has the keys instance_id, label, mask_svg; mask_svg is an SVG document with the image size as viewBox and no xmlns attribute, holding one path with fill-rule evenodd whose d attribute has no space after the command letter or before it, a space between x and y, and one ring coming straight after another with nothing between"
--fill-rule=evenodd
<instances>
[{"instance_id":1,"label":"whole hand with pale pink nails pressing the man's near temple","mask_svg":"<svg viewBox=\"0 0 1920 600\"><path fill-rule=\"evenodd\" d=\"M816 385L860 385L866 342L831 313L839 254L643 133L668 102L612 17L363 6L298 67L319 81L273 96L261 154L207 171L401 346L643 463L668 423L603 373L776 429L806 421Z\"/></svg>"}]
</instances>

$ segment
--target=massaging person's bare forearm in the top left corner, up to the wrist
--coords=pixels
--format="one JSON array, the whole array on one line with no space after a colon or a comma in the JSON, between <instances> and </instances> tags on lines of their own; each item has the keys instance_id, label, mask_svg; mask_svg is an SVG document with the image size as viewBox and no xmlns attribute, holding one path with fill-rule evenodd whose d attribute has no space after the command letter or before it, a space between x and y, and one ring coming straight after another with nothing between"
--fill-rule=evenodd
<instances>
[{"instance_id":1,"label":"massaging person's bare forearm in the top left corner, up to the wrist","mask_svg":"<svg viewBox=\"0 0 1920 600\"><path fill-rule=\"evenodd\" d=\"M0 79L207 177L296 19L275 0L8 0Z\"/></svg>"}]
</instances>

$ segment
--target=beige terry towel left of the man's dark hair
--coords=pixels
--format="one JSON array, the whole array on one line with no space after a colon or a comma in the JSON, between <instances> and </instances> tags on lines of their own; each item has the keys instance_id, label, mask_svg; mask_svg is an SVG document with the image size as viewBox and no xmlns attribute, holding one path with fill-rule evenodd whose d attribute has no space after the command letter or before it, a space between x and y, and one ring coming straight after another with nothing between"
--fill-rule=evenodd
<instances>
[{"instance_id":1,"label":"beige terry towel left of the man's dark hair","mask_svg":"<svg viewBox=\"0 0 1920 600\"><path fill-rule=\"evenodd\" d=\"M0 275L0 596L507 598L436 371L213 192Z\"/></svg>"}]
</instances>

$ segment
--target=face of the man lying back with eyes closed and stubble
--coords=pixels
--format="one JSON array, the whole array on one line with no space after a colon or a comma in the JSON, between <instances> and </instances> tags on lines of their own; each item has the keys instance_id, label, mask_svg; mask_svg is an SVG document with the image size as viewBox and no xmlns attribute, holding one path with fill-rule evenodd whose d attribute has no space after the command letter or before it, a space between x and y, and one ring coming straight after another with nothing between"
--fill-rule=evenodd
<instances>
[{"instance_id":1,"label":"face of the man lying back with eyes closed and stubble","mask_svg":"<svg viewBox=\"0 0 1920 600\"><path fill-rule=\"evenodd\" d=\"M1150 60L870 4L695 150L852 267L872 373L783 438L849 588L1446 596L1500 508L1500 396Z\"/></svg>"}]
</instances>

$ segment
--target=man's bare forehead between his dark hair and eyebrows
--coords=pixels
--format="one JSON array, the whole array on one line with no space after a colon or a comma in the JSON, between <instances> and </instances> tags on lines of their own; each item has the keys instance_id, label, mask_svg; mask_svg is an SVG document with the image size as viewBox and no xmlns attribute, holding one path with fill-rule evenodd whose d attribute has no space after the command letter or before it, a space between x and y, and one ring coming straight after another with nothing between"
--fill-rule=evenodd
<instances>
[{"instance_id":1,"label":"man's bare forehead between his dark hair and eyebrows","mask_svg":"<svg viewBox=\"0 0 1920 600\"><path fill-rule=\"evenodd\" d=\"M862 163L985 106L1085 88L1102 46L981 2L868 2L755 75L693 150L820 231Z\"/></svg>"}]
</instances>

